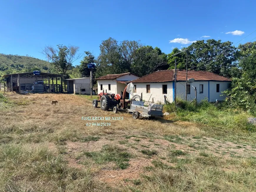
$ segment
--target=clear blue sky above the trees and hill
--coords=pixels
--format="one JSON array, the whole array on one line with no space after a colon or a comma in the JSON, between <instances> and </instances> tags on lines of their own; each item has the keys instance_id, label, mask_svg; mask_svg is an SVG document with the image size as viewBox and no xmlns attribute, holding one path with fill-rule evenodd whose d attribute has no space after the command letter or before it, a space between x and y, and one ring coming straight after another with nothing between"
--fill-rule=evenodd
<instances>
[{"instance_id":1,"label":"clear blue sky above the trees and hill","mask_svg":"<svg viewBox=\"0 0 256 192\"><path fill-rule=\"evenodd\" d=\"M45 45L72 44L79 46L81 53L91 51L98 56L101 41L112 37L117 41L140 40L144 45L170 53L174 47L180 49L209 38L235 44L256 30L253 1L1 0L0 3L0 53L28 54L39 59L45 59L40 53ZM240 43L255 37L256 32Z\"/></svg>"}]
</instances>

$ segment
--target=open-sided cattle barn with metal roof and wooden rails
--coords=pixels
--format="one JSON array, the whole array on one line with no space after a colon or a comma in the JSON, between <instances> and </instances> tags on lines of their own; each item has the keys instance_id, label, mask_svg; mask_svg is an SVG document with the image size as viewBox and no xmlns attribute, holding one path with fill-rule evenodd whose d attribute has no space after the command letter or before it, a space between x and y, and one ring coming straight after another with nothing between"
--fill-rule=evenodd
<instances>
[{"instance_id":1,"label":"open-sided cattle barn with metal roof and wooden rails","mask_svg":"<svg viewBox=\"0 0 256 192\"><path fill-rule=\"evenodd\" d=\"M8 92L62 93L63 76L64 75L33 71L28 73L7 74L2 77L6 80L4 90ZM58 84L58 78L60 79L60 84Z\"/></svg>"}]
</instances>

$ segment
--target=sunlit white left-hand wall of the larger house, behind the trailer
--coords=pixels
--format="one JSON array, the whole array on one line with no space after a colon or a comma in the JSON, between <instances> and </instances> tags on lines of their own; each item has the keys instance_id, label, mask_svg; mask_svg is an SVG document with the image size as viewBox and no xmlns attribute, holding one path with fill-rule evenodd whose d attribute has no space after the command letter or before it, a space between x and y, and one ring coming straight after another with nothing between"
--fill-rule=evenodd
<instances>
[{"instance_id":1,"label":"sunlit white left-hand wall of the larger house, behind the trailer","mask_svg":"<svg viewBox=\"0 0 256 192\"><path fill-rule=\"evenodd\" d=\"M136 85L136 93L134 95L141 96L144 101L152 101L154 98L154 103L163 103L164 95L167 96L167 100L169 102L173 101L173 90L172 90L172 82L166 83L133 83ZM150 85L150 93L147 93L147 85ZM167 94L162 94L162 85L167 85ZM151 96L151 97L150 97Z\"/></svg>"}]
</instances>

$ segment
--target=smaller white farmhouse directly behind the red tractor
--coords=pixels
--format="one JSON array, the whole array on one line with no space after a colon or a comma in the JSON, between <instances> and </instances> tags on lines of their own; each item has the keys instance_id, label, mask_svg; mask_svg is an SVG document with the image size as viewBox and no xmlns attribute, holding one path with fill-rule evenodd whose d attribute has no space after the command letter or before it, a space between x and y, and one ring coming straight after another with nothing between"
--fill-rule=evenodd
<instances>
[{"instance_id":1,"label":"smaller white farmhouse directly behind the red tractor","mask_svg":"<svg viewBox=\"0 0 256 192\"><path fill-rule=\"evenodd\" d=\"M123 94L127 81L138 79L139 77L131 73L112 74L97 78L98 80L98 93L110 92L112 94ZM126 97L129 94L126 94Z\"/></svg>"}]
</instances>

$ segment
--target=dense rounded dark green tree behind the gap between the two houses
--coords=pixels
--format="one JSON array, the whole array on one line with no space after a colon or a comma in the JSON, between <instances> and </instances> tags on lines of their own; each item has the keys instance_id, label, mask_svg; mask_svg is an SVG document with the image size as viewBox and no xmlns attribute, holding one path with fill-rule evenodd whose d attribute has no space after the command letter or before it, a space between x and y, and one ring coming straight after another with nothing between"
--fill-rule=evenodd
<instances>
[{"instance_id":1,"label":"dense rounded dark green tree behind the gap between the two houses","mask_svg":"<svg viewBox=\"0 0 256 192\"><path fill-rule=\"evenodd\" d=\"M167 55L161 49L143 46L136 51L136 57L131 65L132 72L144 76L167 66Z\"/></svg>"}]
</instances>

